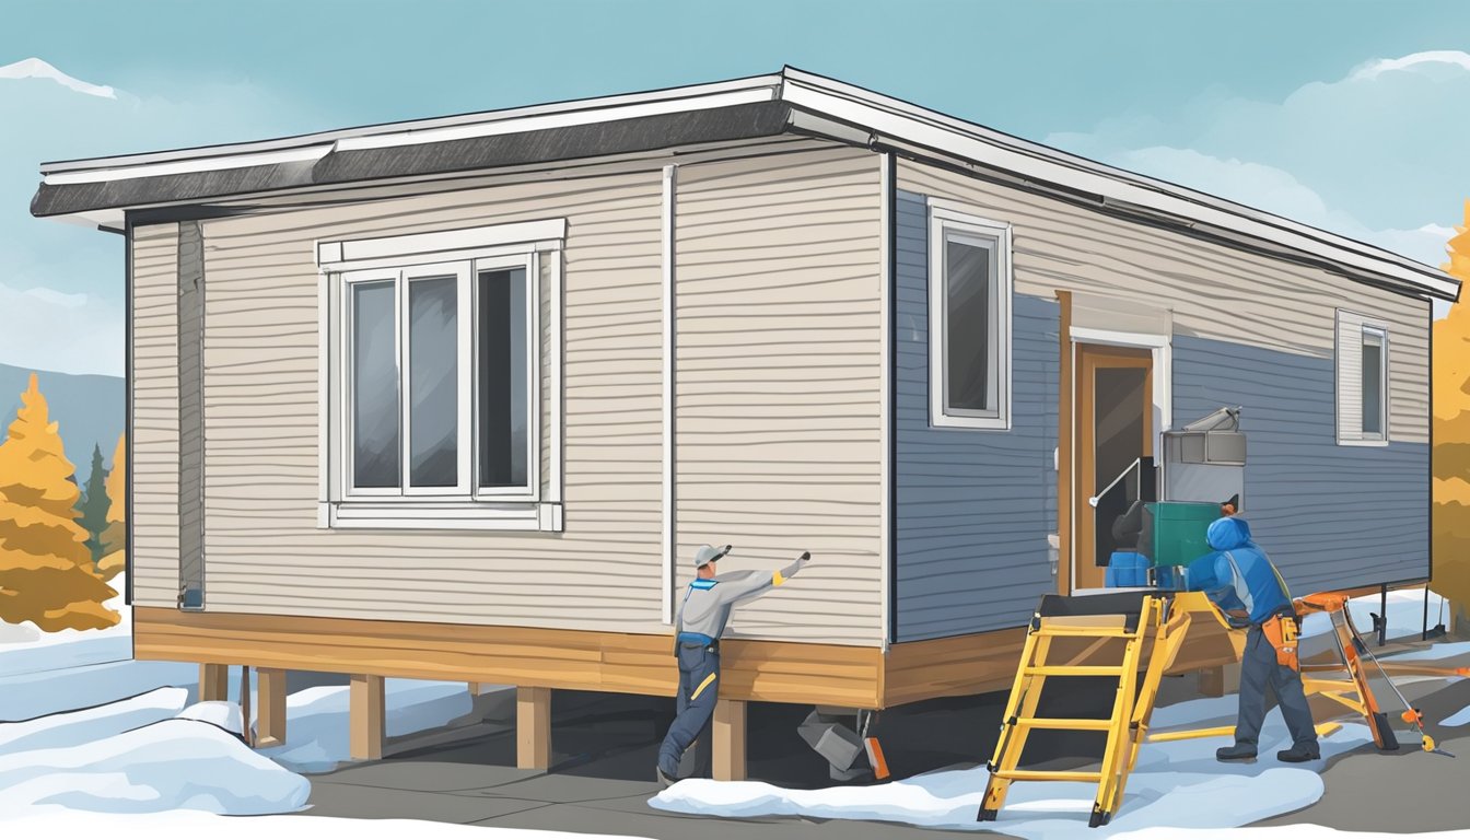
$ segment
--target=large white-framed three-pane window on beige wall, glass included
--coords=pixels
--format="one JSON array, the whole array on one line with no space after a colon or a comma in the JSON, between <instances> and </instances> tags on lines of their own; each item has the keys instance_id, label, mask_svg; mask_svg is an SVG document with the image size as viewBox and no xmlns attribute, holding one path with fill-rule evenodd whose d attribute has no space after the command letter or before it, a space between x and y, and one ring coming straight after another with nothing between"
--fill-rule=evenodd
<instances>
[{"instance_id":1,"label":"large white-framed three-pane window on beige wall, glass included","mask_svg":"<svg viewBox=\"0 0 1470 840\"><path fill-rule=\"evenodd\" d=\"M563 235L556 219L319 243L320 525L560 530L560 400L541 393L560 330L541 307L545 275L560 318Z\"/></svg>"}]
</instances>

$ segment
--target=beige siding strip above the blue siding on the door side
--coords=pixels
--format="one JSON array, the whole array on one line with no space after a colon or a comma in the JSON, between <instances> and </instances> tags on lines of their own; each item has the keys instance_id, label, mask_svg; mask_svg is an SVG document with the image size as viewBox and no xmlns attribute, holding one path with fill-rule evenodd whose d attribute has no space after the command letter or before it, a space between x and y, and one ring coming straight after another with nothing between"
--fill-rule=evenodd
<instances>
[{"instance_id":1,"label":"beige siding strip above the blue siding on the door side","mask_svg":"<svg viewBox=\"0 0 1470 840\"><path fill-rule=\"evenodd\" d=\"M1017 294L1138 300L1170 309L1176 334L1320 359L1333 357L1339 307L1373 313L1389 328L1391 435L1429 441L1427 302L931 165L900 162L898 188L1010 222Z\"/></svg>"}]
</instances>

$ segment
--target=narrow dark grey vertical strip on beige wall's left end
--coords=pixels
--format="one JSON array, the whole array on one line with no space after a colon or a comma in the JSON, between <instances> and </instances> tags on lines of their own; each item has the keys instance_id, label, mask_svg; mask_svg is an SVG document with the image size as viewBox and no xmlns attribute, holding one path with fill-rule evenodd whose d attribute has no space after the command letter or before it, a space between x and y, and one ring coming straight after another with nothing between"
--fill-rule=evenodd
<instances>
[{"instance_id":1,"label":"narrow dark grey vertical strip on beige wall's left end","mask_svg":"<svg viewBox=\"0 0 1470 840\"><path fill-rule=\"evenodd\" d=\"M179 225L179 597L204 590L204 247L198 222ZM198 594L193 594L198 593Z\"/></svg>"}]
</instances>

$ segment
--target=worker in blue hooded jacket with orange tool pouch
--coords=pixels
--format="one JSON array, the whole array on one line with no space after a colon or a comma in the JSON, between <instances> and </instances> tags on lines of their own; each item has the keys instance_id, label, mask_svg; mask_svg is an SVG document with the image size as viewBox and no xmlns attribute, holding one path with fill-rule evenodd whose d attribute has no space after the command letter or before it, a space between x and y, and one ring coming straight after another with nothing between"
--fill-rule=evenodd
<instances>
[{"instance_id":1,"label":"worker in blue hooded jacket with orange tool pouch","mask_svg":"<svg viewBox=\"0 0 1470 840\"><path fill-rule=\"evenodd\" d=\"M1216 519L1205 531L1205 538L1214 552L1189 563L1186 587L1204 591L1233 627L1250 628L1241 656L1241 711L1235 724L1235 744L1220 747L1216 758L1255 758L1255 743L1266 718L1267 683L1276 693L1292 737L1291 749L1277 752L1276 758L1283 762L1322 758L1299 665L1294 668L1282 663L1295 663L1297 615L1286 583L1266 552L1251 540L1251 527L1245 519L1230 515ZM1288 628L1289 656L1279 653L1282 627Z\"/></svg>"}]
</instances>

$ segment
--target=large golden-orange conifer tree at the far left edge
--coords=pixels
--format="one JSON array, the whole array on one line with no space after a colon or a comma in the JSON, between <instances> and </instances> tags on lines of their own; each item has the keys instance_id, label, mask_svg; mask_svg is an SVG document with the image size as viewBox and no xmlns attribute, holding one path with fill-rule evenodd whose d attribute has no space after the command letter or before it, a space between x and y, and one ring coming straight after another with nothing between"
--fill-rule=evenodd
<instances>
[{"instance_id":1,"label":"large golden-orange conifer tree at the far left edge","mask_svg":"<svg viewBox=\"0 0 1470 840\"><path fill-rule=\"evenodd\" d=\"M87 530L76 522L81 488L66 460L35 374L0 443L0 621L97 630L121 616L103 606L118 593L93 571Z\"/></svg>"}]
</instances>

